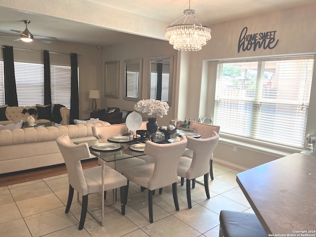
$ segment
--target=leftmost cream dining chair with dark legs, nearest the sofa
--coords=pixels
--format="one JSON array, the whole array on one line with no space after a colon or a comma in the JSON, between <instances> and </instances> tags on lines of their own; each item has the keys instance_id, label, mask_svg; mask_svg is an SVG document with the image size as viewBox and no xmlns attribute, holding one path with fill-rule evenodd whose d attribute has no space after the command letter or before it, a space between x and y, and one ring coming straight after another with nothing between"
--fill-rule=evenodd
<instances>
[{"instance_id":1,"label":"leftmost cream dining chair with dark legs, nearest the sofa","mask_svg":"<svg viewBox=\"0 0 316 237\"><path fill-rule=\"evenodd\" d=\"M62 135L56 140L58 148L65 160L68 172L69 194L65 213L68 213L74 196L74 190L82 195L79 230L82 230L87 211L98 222L100 220L88 210L88 195L102 192L102 166L82 170L81 159L89 158L90 151L87 143L75 145L69 134ZM127 179L116 170L104 166L104 191L120 188L121 213L125 214Z\"/></svg>"}]
</instances>

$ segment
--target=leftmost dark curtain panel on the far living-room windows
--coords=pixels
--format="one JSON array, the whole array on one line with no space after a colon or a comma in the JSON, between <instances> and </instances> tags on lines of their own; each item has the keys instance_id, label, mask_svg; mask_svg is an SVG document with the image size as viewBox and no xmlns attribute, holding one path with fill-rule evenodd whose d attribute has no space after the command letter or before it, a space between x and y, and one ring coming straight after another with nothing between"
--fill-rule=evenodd
<instances>
[{"instance_id":1,"label":"leftmost dark curtain panel on the far living-room windows","mask_svg":"<svg viewBox=\"0 0 316 237\"><path fill-rule=\"evenodd\" d=\"M4 71L4 93L5 104L8 106L18 106L16 94L16 84L14 76L14 57L13 47L3 47L3 71Z\"/></svg>"}]
</instances>

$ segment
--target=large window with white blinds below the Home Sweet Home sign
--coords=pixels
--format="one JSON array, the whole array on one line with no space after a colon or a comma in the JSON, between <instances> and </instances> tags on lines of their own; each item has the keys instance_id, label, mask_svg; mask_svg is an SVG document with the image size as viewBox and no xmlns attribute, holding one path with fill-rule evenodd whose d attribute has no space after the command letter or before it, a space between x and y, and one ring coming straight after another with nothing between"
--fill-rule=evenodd
<instances>
[{"instance_id":1,"label":"large window with white blinds below the Home Sweet Home sign","mask_svg":"<svg viewBox=\"0 0 316 237\"><path fill-rule=\"evenodd\" d=\"M314 56L219 62L214 124L221 132L303 148Z\"/></svg>"}]
</instances>

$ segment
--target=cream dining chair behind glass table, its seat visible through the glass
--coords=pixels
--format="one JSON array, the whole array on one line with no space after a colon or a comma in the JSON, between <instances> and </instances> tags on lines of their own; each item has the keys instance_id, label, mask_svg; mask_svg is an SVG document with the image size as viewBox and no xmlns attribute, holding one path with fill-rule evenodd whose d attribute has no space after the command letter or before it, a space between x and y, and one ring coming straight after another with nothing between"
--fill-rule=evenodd
<instances>
[{"instance_id":1,"label":"cream dining chair behind glass table, its seat visible through the glass","mask_svg":"<svg viewBox=\"0 0 316 237\"><path fill-rule=\"evenodd\" d=\"M108 139L113 136L120 136L123 134L128 133L128 129L125 123L121 124L111 124L111 125L104 125L104 126L92 126L92 134L97 139ZM118 172L122 172L126 168L139 166L146 164L144 159L140 158L128 158L129 155L126 154L118 154L116 155L117 159L119 158L126 158L121 159L113 162L105 162L106 165L110 166L111 168L115 168ZM116 162L116 163L115 163Z\"/></svg>"}]
</instances>

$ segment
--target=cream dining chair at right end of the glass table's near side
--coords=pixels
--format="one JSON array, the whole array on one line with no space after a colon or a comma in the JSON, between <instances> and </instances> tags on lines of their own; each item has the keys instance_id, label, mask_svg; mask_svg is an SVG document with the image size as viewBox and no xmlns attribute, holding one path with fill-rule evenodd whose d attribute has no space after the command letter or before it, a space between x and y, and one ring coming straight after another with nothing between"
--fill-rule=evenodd
<instances>
[{"instance_id":1,"label":"cream dining chair at right end of the glass table's near side","mask_svg":"<svg viewBox=\"0 0 316 237\"><path fill-rule=\"evenodd\" d=\"M181 157L178 165L178 176L181 177L181 184L183 185L184 178L187 179L187 200L188 207L191 208L191 180L194 180L204 175L204 187L206 197L209 199L208 189L208 165L209 165L209 154L212 154L219 136L213 131L213 136L210 138L193 138L188 137L187 148L193 151L193 157Z\"/></svg>"}]
</instances>

